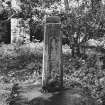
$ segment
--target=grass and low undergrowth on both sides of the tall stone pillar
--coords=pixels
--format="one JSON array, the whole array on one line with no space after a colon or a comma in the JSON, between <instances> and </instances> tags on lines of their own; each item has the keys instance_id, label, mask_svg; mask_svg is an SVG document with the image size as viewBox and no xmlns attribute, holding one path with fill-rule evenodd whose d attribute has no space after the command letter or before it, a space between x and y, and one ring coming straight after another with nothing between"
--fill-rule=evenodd
<instances>
[{"instance_id":1,"label":"grass and low undergrowth on both sides of the tall stone pillar","mask_svg":"<svg viewBox=\"0 0 105 105\"><path fill-rule=\"evenodd\" d=\"M103 91L105 91L105 71L99 70L95 62L90 66L92 57L85 60L82 58L72 58L69 47L65 45L62 48L64 86L77 86L84 89L87 87L88 93L101 103L104 96ZM21 46L3 44L0 47L1 90L6 90L9 94L10 88L3 89L2 84L36 82L42 73L42 56L43 43L28 43ZM6 96L8 96L7 93Z\"/></svg>"}]
</instances>

